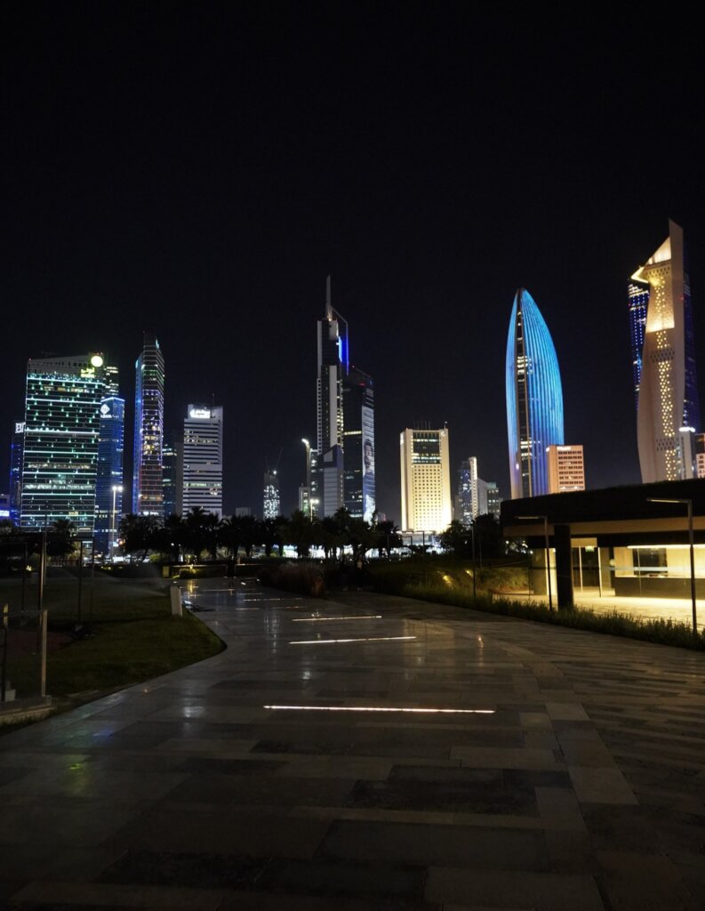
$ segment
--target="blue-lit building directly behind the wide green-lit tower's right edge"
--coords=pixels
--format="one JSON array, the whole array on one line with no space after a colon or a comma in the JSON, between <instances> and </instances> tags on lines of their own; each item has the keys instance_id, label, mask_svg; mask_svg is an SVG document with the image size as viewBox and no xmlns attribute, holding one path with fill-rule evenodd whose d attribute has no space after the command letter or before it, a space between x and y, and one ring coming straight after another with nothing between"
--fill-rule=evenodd
<instances>
[{"instance_id":1,"label":"blue-lit building directly behind the wide green-lit tower's right edge","mask_svg":"<svg viewBox=\"0 0 705 911\"><path fill-rule=\"evenodd\" d=\"M108 395L100 403L96 476L96 553L113 557L122 516L122 461L125 399Z\"/></svg>"}]
</instances>

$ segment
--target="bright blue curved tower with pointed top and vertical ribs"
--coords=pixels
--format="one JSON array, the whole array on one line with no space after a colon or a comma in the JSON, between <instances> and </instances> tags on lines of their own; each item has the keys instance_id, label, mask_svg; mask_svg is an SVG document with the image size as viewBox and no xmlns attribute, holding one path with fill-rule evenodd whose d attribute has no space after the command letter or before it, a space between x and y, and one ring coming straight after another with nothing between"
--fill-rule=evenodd
<instances>
[{"instance_id":1,"label":"bright blue curved tower with pointed top and vertical ribs","mask_svg":"<svg viewBox=\"0 0 705 911\"><path fill-rule=\"evenodd\" d=\"M551 333L525 288L506 341L506 430L512 499L547 494L546 448L563 443L563 390Z\"/></svg>"}]
</instances>

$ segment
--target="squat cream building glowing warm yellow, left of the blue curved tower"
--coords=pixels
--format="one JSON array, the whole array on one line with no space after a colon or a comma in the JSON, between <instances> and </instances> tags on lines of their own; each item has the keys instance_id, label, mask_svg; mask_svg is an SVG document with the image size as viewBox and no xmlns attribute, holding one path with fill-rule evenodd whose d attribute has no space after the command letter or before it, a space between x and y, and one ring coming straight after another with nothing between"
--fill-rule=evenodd
<instances>
[{"instance_id":1,"label":"squat cream building glowing warm yellow, left of the blue curved tower","mask_svg":"<svg viewBox=\"0 0 705 911\"><path fill-rule=\"evenodd\" d=\"M399 439L402 470L402 528L440 533L453 517L448 428L407 428Z\"/></svg>"}]
</instances>

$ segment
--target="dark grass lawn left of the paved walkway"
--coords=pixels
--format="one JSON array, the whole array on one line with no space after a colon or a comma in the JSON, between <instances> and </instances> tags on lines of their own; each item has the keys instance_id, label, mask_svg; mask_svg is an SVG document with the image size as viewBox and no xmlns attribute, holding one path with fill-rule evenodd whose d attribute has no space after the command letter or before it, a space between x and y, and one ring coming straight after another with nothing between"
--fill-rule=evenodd
<instances>
[{"instance_id":1,"label":"dark grass lawn left of the paved walkway","mask_svg":"<svg viewBox=\"0 0 705 911\"><path fill-rule=\"evenodd\" d=\"M38 694L36 594L35 581L26 586L26 626L15 624L8 633L7 677L17 698ZM189 611L183 617L171 616L167 586L157 578L115 579L97 573L92 597L89 579L84 578L80 624L77 594L77 578L67 572L56 578L50 574L46 580L46 692L59 710L209 658L224 648ZM15 618L20 599L17 580L0 582L0 600L9 603ZM84 631L87 635L77 635Z\"/></svg>"}]
</instances>

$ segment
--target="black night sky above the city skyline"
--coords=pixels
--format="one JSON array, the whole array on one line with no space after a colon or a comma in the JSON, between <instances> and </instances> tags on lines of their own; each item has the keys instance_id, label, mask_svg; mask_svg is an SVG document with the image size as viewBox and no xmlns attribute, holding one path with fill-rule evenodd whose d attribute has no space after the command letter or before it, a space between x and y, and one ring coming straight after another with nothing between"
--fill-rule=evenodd
<instances>
[{"instance_id":1,"label":"black night sky above the city skyline","mask_svg":"<svg viewBox=\"0 0 705 911\"><path fill-rule=\"evenodd\" d=\"M669 218L690 252L705 388L700 37L682 17L560 15L6 6L3 476L26 359L43 352L111 354L131 449L147 329L166 357L168 426L189 402L224 406L226 511L260 513L279 460L291 512L330 272L351 360L375 383L390 517L399 433L419 422L447 422L453 466L477 455L508 496L519 286L553 335L588 486L638 482L626 287Z\"/></svg>"}]
</instances>

